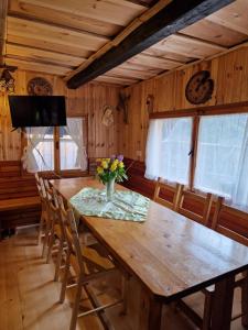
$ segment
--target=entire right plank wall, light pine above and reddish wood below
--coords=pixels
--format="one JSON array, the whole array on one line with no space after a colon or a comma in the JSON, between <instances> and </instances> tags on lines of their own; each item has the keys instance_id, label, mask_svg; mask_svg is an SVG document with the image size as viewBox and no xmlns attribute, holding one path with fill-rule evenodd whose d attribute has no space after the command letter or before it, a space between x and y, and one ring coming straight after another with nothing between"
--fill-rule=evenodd
<instances>
[{"instance_id":1,"label":"entire right plank wall, light pine above and reddish wood below","mask_svg":"<svg viewBox=\"0 0 248 330\"><path fill-rule=\"evenodd\" d=\"M192 65L163 77L153 78L136 84L125 89L129 100L129 123L119 119L119 153L126 157L129 168L127 187L148 197L153 196L154 183L144 178L145 141L149 127L147 111L148 95L154 96L153 112L193 108L185 98L185 86L190 77L201 69L209 69L215 81L212 99L206 106L227 105L248 101L248 47L239 48L226 55ZM195 107L197 108L197 107ZM168 196L170 197L170 196ZM197 209L198 206L187 200L187 207ZM230 231L248 238L248 215L234 216L233 212L220 213L220 224Z\"/></svg>"}]
</instances>

